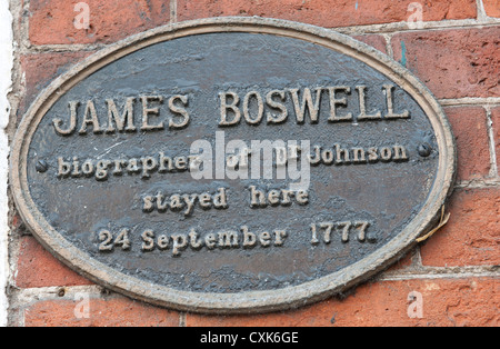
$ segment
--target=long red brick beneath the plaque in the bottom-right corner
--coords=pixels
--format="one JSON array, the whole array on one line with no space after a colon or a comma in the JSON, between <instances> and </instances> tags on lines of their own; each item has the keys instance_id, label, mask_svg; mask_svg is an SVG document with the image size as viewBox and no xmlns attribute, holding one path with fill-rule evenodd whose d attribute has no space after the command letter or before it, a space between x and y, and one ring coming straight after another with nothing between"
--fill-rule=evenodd
<instances>
[{"instance_id":1,"label":"long red brick beneath the plaque in the bottom-right corner","mask_svg":"<svg viewBox=\"0 0 500 349\"><path fill-rule=\"evenodd\" d=\"M422 295L423 318L412 319L410 292ZM359 287L344 300L267 316L199 316L190 327L497 327L500 282L494 278L383 281Z\"/></svg>"}]
</instances>

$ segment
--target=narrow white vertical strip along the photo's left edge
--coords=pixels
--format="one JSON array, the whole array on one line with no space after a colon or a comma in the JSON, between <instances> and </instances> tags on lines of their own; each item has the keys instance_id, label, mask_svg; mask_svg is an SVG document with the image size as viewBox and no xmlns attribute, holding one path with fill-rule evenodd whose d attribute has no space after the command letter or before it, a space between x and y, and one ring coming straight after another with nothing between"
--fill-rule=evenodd
<instances>
[{"instance_id":1,"label":"narrow white vertical strip along the photo's left edge","mask_svg":"<svg viewBox=\"0 0 500 349\"><path fill-rule=\"evenodd\" d=\"M10 104L7 98L12 87L13 66L12 16L9 1L0 0L0 327L7 326L8 259L8 212L7 181L9 172L9 140L6 128L9 124Z\"/></svg>"}]
</instances>

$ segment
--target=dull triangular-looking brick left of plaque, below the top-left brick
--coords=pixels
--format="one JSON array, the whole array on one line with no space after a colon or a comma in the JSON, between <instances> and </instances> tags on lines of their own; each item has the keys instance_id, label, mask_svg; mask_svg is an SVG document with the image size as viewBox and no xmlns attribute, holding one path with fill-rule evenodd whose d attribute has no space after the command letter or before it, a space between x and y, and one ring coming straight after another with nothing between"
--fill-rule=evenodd
<instances>
[{"instance_id":1,"label":"dull triangular-looking brick left of plaque, below the top-left brick","mask_svg":"<svg viewBox=\"0 0 500 349\"><path fill-rule=\"evenodd\" d=\"M93 52L38 53L21 57L26 77L26 93L19 113L23 113L38 93L59 74Z\"/></svg>"}]
</instances>

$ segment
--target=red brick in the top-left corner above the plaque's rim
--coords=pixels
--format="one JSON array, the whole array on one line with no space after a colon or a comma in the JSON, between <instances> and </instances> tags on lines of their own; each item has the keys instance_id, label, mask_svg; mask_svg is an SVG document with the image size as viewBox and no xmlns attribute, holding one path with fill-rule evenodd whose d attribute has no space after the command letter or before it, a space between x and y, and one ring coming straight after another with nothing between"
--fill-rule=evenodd
<instances>
[{"instance_id":1,"label":"red brick in the top-left corner above the plaque's rim","mask_svg":"<svg viewBox=\"0 0 500 349\"><path fill-rule=\"evenodd\" d=\"M80 0L32 0L29 38L34 44L113 42L170 21L170 1L87 0L90 28L77 29Z\"/></svg>"}]
</instances>

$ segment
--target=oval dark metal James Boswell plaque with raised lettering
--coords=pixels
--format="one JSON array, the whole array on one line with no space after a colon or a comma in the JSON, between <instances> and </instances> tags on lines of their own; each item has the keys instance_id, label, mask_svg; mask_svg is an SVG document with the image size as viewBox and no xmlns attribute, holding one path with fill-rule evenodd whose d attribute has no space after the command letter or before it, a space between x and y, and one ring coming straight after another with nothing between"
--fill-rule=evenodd
<instances>
[{"instance_id":1,"label":"oval dark metal James Boswell plaque with raised lettering","mask_svg":"<svg viewBox=\"0 0 500 349\"><path fill-rule=\"evenodd\" d=\"M13 141L20 215L112 290L199 312L341 292L437 223L453 137L408 70L330 30L163 27L59 77Z\"/></svg>"}]
</instances>

